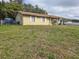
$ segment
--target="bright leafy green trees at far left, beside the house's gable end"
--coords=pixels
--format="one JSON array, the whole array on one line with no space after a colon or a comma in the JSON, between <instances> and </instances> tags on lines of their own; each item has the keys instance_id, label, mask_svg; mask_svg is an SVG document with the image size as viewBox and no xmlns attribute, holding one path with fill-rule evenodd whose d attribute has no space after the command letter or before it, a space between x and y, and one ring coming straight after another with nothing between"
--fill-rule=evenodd
<instances>
[{"instance_id":1,"label":"bright leafy green trees at far left, beside the house's gable end","mask_svg":"<svg viewBox=\"0 0 79 59\"><path fill-rule=\"evenodd\" d=\"M23 5L17 3L1 3L0 2L0 16L2 19L11 17L15 19L17 11L22 11Z\"/></svg>"}]
</instances>

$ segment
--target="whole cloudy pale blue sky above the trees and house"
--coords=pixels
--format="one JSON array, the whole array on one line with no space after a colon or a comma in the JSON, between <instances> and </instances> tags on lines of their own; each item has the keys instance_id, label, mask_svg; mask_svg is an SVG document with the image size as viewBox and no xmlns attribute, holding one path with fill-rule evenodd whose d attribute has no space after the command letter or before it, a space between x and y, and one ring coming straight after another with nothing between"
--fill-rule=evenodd
<instances>
[{"instance_id":1,"label":"whole cloudy pale blue sky above the trees and house","mask_svg":"<svg viewBox=\"0 0 79 59\"><path fill-rule=\"evenodd\" d=\"M38 5L51 15L79 19L79 0L24 0L24 3Z\"/></svg>"}]
</instances>

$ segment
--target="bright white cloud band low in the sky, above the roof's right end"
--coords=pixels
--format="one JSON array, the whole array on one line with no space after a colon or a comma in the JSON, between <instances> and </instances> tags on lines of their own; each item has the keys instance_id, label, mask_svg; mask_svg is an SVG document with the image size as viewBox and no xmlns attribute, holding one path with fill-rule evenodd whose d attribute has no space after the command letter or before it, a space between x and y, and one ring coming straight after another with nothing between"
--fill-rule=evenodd
<instances>
[{"instance_id":1,"label":"bright white cloud band low in the sky, above the roof's right end","mask_svg":"<svg viewBox=\"0 0 79 59\"><path fill-rule=\"evenodd\" d=\"M79 7L53 7L51 8L52 11L49 13L50 14L55 14L58 16L64 16L67 18L77 18L79 19L78 15L79 15Z\"/></svg>"}]
</instances>

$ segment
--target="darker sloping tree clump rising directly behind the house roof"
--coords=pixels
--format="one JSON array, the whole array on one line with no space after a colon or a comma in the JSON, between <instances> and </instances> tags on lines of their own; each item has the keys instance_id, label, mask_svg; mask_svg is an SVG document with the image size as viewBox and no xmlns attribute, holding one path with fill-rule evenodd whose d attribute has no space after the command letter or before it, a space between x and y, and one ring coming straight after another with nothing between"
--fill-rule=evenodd
<instances>
[{"instance_id":1,"label":"darker sloping tree clump rising directly behind the house roof","mask_svg":"<svg viewBox=\"0 0 79 59\"><path fill-rule=\"evenodd\" d=\"M38 5L33 6L32 4L24 4L24 11L40 14L48 14L46 10L39 8Z\"/></svg>"}]
</instances>

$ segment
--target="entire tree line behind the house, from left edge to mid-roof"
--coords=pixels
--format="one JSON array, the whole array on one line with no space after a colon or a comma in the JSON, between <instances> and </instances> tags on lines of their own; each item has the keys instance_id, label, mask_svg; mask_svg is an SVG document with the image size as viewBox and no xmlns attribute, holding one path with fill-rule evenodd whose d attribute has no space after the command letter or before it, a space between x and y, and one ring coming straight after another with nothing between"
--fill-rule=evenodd
<instances>
[{"instance_id":1,"label":"entire tree line behind the house, from left edge to mid-roof","mask_svg":"<svg viewBox=\"0 0 79 59\"><path fill-rule=\"evenodd\" d=\"M26 11L40 14L47 14L47 11L39 8L38 5L33 6L32 4L23 4L16 2L0 2L0 19L6 17L15 19L17 11Z\"/></svg>"}]
</instances>

